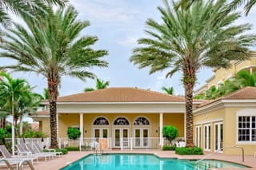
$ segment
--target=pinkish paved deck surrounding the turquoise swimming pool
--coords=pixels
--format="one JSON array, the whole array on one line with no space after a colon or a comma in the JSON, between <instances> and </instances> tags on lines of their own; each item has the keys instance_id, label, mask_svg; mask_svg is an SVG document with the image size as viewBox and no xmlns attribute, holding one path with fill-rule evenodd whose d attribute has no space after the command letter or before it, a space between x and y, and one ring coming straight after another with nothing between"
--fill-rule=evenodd
<instances>
[{"instance_id":1,"label":"pinkish paved deck surrounding the turquoise swimming pool","mask_svg":"<svg viewBox=\"0 0 256 170\"><path fill-rule=\"evenodd\" d=\"M57 170L59 168L65 167L67 164L74 162L84 156L94 153L91 151L82 151L82 152L69 152L68 154L55 158L53 160L40 160L38 163L34 164L36 170ZM179 156L174 153L174 151L162 151L162 150L110 150L105 151L104 153L150 153L161 158L178 158L178 159L187 159L187 160L199 160L203 156L206 156L210 152L205 152L203 156ZM226 160L238 164L244 164L252 168L236 168L237 170L256 170L256 158L254 156L245 156L245 161L242 162L242 156L229 156L223 155L221 153L214 153L212 156L208 157L210 160ZM0 168L7 169L7 168ZM29 170L28 166L23 167L24 170ZM230 170L231 168L218 168L219 170ZM211 170L216 170L216 168L211 168Z\"/></svg>"}]
</instances>

